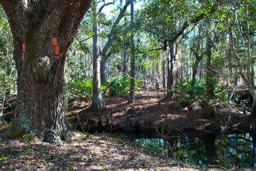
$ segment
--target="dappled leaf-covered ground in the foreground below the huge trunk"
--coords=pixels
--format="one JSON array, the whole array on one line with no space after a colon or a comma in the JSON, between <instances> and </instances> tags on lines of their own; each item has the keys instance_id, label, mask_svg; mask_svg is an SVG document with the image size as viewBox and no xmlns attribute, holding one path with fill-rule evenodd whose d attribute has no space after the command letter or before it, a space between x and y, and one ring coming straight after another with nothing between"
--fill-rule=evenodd
<instances>
[{"instance_id":1,"label":"dappled leaf-covered ground in the foreground below the huge trunk","mask_svg":"<svg viewBox=\"0 0 256 171\"><path fill-rule=\"evenodd\" d=\"M110 135L76 133L62 146L0 139L0 170L197 169Z\"/></svg>"}]
</instances>

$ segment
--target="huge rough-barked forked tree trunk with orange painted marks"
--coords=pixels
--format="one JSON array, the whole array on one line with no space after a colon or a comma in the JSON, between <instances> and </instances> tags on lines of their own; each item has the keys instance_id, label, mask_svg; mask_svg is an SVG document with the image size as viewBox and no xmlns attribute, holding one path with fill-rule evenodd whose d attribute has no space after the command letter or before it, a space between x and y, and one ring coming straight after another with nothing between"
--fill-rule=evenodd
<instances>
[{"instance_id":1,"label":"huge rough-barked forked tree trunk with orange painted marks","mask_svg":"<svg viewBox=\"0 0 256 171\"><path fill-rule=\"evenodd\" d=\"M68 136L63 114L66 52L91 0L0 0L14 37L16 124L43 141Z\"/></svg>"}]
</instances>

